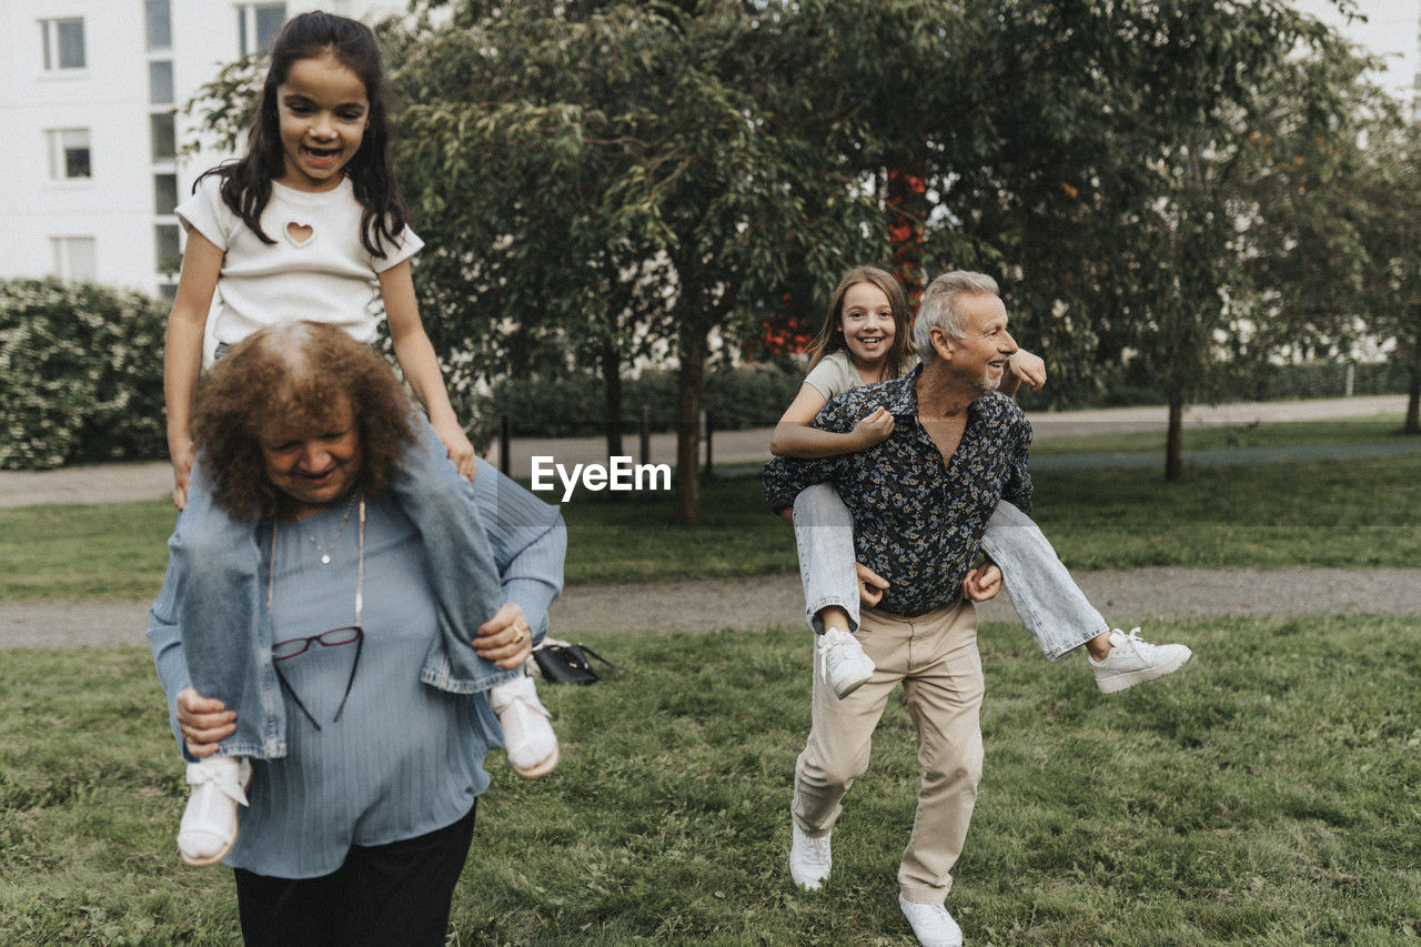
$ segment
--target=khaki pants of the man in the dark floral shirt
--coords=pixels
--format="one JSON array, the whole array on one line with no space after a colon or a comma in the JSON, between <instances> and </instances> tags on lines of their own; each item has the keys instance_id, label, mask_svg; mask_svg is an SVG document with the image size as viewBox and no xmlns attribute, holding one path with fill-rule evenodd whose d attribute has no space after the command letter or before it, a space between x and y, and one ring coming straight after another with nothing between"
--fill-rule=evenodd
<instances>
[{"instance_id":1,"label":"khaki pants of the man in the dark floral shirt","mask_svg":"<svg viewBox=\"0 0 1421 947\"><path fill-rule=\"evenodd\" d=\"M791 813L823 836L843 812L844 793L868 769L868 748L888 695L902 683L918 727L922 785L912 836L898 867L909 901L941 904L952 887L982 778L982 658L971 601L915 619L867 609L855 633L878 670L845 700L814 668L809 742L794 765Z\"/></svg>"}]
</instances>

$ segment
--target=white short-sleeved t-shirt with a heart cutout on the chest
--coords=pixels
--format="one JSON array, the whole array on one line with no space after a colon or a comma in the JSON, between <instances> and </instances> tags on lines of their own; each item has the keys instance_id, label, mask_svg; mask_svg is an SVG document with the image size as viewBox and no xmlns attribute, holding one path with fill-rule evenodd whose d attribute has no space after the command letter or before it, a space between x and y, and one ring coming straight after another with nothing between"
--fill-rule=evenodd
<instances>
[{"instance_id":1,"label":"white short-sleeved t-shirt with a heart cutout on the chest","mask_svg":"<svg viewBox=\"0 0 1421 947\"><path fill-rule=\"evenodd\" d=\"M378 277L419 252L423 240L408 226L385 256L372 256L360 239L362 208L348 179L334 191L310 193L271 182L263 243L227 205L222 178L207 175L176 210L223 253L217 277L213 337L239 343L264 326L298 320L340 326L361 343L375 340L382 313Z\"/></svg>"}]
</instances>

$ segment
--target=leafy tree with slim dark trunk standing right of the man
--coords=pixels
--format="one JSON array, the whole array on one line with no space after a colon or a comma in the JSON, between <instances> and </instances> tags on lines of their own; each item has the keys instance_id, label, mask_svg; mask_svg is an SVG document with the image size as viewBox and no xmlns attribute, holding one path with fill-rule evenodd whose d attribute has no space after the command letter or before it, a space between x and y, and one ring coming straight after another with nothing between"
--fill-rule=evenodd
<instances>
[{"instance_id":1,"label":"leafy tree with slim dark trunk standing right of the man","mask_svg":"<svg viewBox=\"0 0 1421 947\"><path fill-rule=\"evenodd\" d=\"M1131 361L1164 388L1175 479L1184 405L1211 397L1232 343L1255 331L1241 316L1269 316L1249 306L1242 264L1249 137L1272 134L1292 97L1319 146L1337 141L1341 100L1296 80L1343 57L1340 40L1280 0L983 6L1002 24L988 61L1010 64L992 80L1017 117L956 188L963 223L1017 262L1017 304L1052 355L1087 371Z\"/></svg>"}]
</instances>

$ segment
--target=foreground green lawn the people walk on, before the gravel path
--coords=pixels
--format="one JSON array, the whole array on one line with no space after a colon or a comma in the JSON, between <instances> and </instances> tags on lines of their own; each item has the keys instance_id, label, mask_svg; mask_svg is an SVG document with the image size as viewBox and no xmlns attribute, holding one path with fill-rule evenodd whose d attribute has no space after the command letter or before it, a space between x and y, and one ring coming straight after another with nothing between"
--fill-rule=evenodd
<instances>
[{"instance_id":1,"label":"foreground green lawn the people walk on, before the gravel path","mask_svg":"<svg viewBox=\"0 0 1421 947\"><path fill-rule=\"evenodd\" d=\"M1154 627L1199 657L1096 692L982 631L986 772L949 907L973 944L1401 944L1421 930L1415 623ZM894 702L821 893L786 867L809 725L799 628L605 636L630 670L543 687L563 765L500 755L458 944L908 944L918 783ZM225 869L180 869L180 764L146 651L0 653L0 943L230 944Z\"/></svg>"}]
</instances>

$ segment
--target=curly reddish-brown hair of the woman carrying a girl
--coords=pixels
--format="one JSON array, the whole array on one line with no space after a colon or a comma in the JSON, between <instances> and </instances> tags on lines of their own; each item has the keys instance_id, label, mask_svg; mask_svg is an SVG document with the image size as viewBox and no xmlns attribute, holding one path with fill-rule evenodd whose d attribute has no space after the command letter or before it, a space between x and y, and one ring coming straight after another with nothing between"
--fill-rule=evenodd
<instances>
[{"instance_id":1,"label":"curly reddish-brown hair of the woman carrying a girl","mask_svg":"<svg viewBox=\"0 0 1421 947\"><path fill-rule=\"evenodd\" d=\"M304 321L263 328L227 350L192 421L217 505L236 519L286 515L293 503L267 476L261 434L328 431L345 404L360 434L355 489L379 493L416 435L414 404L384 358L334 326Z\"/></svg>"}]
</instances>

